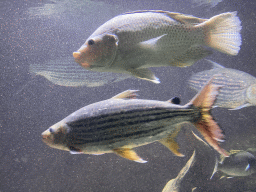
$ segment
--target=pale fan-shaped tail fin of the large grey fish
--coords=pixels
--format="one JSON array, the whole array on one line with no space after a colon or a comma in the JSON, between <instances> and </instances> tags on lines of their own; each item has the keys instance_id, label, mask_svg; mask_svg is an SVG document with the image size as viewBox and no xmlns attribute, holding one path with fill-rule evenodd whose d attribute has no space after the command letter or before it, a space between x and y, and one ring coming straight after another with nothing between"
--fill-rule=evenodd
<instances>
[{"instance_id":1,"label":"pale fan-shaped tail fin of the large grey fish","mask_svg":"<svg viewBox=\"0 0 256 192\"><path fill-rule=\"evenodd\" d=\"M199 26L204 28L207 46L229 55L238 54L242 43L242 26L236 12L216 15Z\"/></svg>"}]
</instances>

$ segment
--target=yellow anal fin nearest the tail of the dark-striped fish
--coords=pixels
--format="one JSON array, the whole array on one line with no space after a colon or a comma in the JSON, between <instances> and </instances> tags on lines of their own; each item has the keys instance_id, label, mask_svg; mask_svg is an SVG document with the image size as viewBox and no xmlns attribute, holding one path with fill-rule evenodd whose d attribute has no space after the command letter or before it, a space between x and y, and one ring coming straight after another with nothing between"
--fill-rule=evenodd
<instances>
[{"instance_id":1,"label":"yellow anal fin nearest the tail of the dark-striped fish","mask_svg":"<svg viewBox=\"0 0 256 192\"><path fill-rule=\"evenodd\" d=\"M168 149L171 150L171 152L173 152L175 155L179 156L179 157L184 157L184 155L182 153L179 152L179 145L178 143L174 140L175 137L177 137L180 128L177 128L173 133L169 134L167 137L159 140L160 143L162 143L164 146L166 146Z\"/></svg>"}]
</instances>

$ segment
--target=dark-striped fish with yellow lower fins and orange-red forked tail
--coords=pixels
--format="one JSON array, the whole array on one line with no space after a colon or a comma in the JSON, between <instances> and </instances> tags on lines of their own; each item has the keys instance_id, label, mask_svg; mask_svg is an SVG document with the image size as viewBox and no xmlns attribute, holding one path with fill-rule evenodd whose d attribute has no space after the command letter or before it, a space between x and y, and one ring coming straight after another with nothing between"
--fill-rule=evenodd
<instances>
[{"instance_id":1,"label":"dark-striped fish with yellow lower fins and orange-red forked tail","mask_svg":"<svg viewBox=\"0 0 256 192\"><path fill-rule=\"evenodd\" d=\"M42 133L50 147L72 153L116 153L145 163L134 147L158 141L174 154L182 156L174 140L179 124L194 124L205 140L219 153L224 135L210 115L218 94L211 81L188 104L136 99L136 90L124 91L110 99L85 106Z\"/></svg>"}]
</instances>

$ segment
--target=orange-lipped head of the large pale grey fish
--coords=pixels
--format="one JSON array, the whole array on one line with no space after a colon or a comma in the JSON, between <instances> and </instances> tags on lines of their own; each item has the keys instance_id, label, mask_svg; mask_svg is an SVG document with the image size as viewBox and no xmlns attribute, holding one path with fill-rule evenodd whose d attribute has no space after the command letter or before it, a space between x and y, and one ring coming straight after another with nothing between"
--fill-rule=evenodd
<instances>
[{"instance_id":1,"label":"orange-lipped head of the large pale grey fish","mask_svg":"<svg viewBox=\"0 0 256 192\"><path fill-rule=\"evenodd\" d=\"M116 56L117 47L117 36L98 35L88 38L80 49L73 52L73 57L82 67L97 70L111 66Z\"/></svg>"}]
</instances>

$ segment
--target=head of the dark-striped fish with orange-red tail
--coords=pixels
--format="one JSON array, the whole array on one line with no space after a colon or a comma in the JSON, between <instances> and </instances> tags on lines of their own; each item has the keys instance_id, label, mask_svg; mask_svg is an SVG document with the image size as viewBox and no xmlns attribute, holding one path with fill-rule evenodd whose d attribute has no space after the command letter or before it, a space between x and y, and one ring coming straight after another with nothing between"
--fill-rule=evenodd
<instances>
[{"instance_id":1,"label":"head of the dark-striped fish with orange-red tail","mask_svg":"<svg viewBox=\"0 0 256 192\"><path fill-rule=\"evenodd\" d=\"M66 135L69 132L69 128L64 123L56 123L42 133L42 140L45 144L52 148L66 150Z\"/></svg>"}]
</instances>

